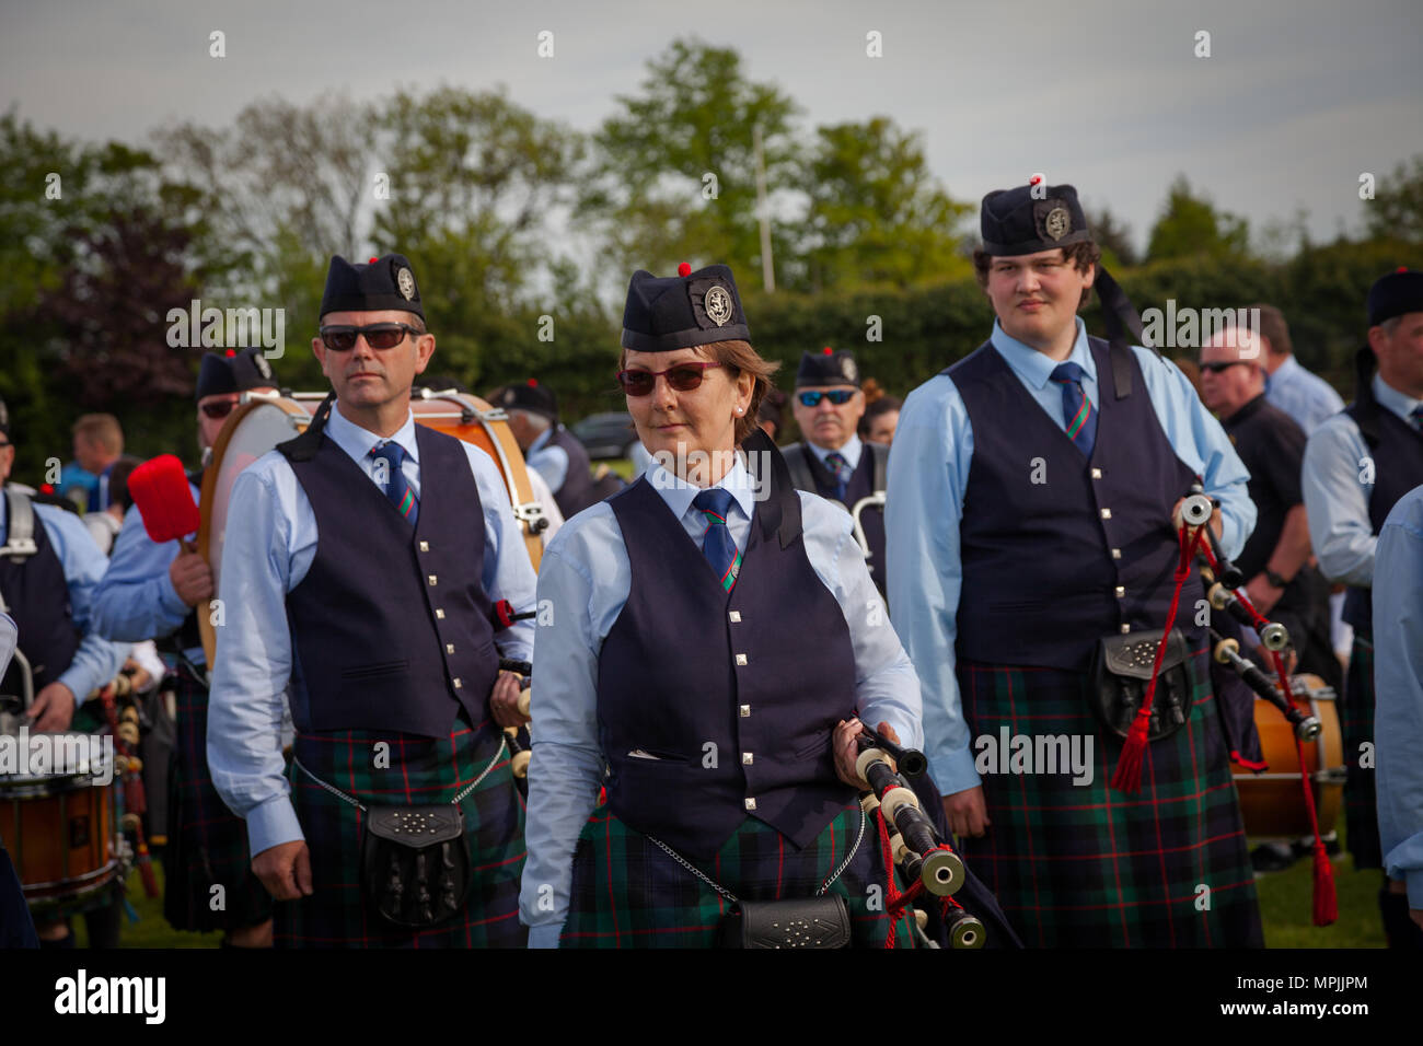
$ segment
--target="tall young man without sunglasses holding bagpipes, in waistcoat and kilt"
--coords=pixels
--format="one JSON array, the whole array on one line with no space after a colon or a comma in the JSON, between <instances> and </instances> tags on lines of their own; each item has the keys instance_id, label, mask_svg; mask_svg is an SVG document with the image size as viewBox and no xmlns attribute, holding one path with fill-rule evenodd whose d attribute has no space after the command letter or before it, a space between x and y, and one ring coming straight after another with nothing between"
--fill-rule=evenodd
<instances>
[{"instance_id":1,"label":"tall young man without sunglasses holding bagpipes, in waistcoat and kilt","mask_svg":"<svg viewBox=\"0 0 1423 1046\"><path fill-rule=\"evenodd\" d=\"M982 233L998 322L909 396L889 465L889 606L945 813L1029 946L1258 945L1200 579L1181 593L1187 642L1155 694L1138 791L1109 793L1121 720L1100 726L1093 699L1117 689L1090 673L1103 646L1165 625L1173 517L1197 477L1220 500L1224 551L1239 551L1255 522L1245 468L1180 370L1087 337L1076 313L1094 279L1120 292L1073 186L990 192ZM1072 768L1047 757L1063 741L1083 756Z\"/></svg>"}]
</instances>

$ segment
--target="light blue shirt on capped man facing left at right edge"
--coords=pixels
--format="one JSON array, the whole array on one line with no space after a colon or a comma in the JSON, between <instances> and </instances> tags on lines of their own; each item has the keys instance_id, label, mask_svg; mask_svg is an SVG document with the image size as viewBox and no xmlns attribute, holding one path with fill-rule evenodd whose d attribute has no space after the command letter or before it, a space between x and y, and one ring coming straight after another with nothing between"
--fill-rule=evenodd
<instances>
[{"instance_id":1,"label":"light blue shirt on capped man facing left at right edge","mask_svg":"<svg viewBox=\"0 0 1423 1046\"><path fill-rule=\"evenodd\" d=\"M1423 400L1373 376L1379 406L1403 421ZM1333 582L1369 588L1373 583L1373 551L1379 544L1369 521L1372 458L1358 423L1335 414L1319 426L1305 444L1299 487L1309 517L1309 542L1319 569Z\"/></svg>"}]
</instances>

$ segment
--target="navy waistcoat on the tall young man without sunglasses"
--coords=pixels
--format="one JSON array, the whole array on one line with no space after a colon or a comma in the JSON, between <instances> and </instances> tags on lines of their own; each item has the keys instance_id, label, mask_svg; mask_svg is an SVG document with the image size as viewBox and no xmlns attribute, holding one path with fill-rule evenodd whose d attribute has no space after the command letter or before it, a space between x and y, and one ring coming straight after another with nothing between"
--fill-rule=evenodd
<instances>
[{"instance_id":1,"label":"navy waistcoat on the tall young man without sunglasses","mask_svg":"<svg viewBox=\"0 0 1423 1046\"><path fill-rule=\"evenodd\" d=\"M1090 461L992 343L943 371L973 427L959 525L961 659L1084 672L1104 636L1165 625L1180 559L1171 508L1195 475L1161 430L1136 356L1136 391L1117 398L1107 343L1093 337L1089 347L1101 400ZM1198 599L1192 572L1177 613L1191 649L1204 642Z\"/></svg>"}]
</instances>

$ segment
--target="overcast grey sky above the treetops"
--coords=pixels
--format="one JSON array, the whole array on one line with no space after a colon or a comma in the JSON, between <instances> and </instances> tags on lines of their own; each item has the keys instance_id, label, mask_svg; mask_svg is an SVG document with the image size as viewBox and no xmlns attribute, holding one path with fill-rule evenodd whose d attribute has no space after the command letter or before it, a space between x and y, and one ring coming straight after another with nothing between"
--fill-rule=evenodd
<instances>
[{"instance_id":1,"label":"overcast grey sky above the treetops","mask_svg":"<svg viewBox=\"0 0 1423 1046\"><path fill-rule=\"evenodd\" d=\"M0 104L65 135L141 139L226 124L255 98L498 84L592 130L679 36L734 47L804 127L887 114L978 201L1036 171L1107 205L1144 243L1180 172L1254 229L1362 222L1359 175L1423 151L1423 3L596 3L240 0L0 4ZM226 57L208 34L226 34ZM536 56L554 33L554 58ZM884 57L865 54L882 34ZM1207 30L1211 56L1195 57Z\"/></svg>"}]
</instances>

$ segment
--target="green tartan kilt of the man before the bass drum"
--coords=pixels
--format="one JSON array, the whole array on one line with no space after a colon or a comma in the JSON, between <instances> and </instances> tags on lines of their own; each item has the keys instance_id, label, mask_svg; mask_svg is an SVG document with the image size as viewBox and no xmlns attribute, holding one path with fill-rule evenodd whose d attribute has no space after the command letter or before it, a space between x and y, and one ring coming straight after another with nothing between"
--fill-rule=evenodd
<instances>
[{"instance_id":1,"label":"green tartan kilt of the man before the bass drum","mask_svg":"<svg viewBox=\"0 0 1423 1046\"><path fill-rule=\"evenodd\" d=\"M524 797L514 786L508 750L494 720L478 729L461 716L448 737L393 731L299 733L287 768L292 804L312 855L312 895L276 904L277 948L522 948L519 875L524 872ZM377 761L377 743L388 744ZM451 803L491 760L494 768L460 803L474 882L464 908L430 929L386 924L360 889L364 814L313 781L319 778L366 805Z\"/></svg>"}]
</instances>

